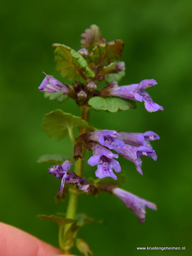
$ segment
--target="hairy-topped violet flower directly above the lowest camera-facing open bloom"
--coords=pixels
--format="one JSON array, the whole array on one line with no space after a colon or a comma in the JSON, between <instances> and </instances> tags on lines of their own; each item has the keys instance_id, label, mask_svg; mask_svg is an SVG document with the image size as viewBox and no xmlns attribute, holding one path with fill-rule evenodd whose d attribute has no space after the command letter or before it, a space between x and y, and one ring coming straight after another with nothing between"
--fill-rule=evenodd
<instances>
[{"instance_id":1,"label":"hairy-topped violet flower directly above the lowest camera-facing open bloom","mask_svg":"<svg viewBox=\"0 0 192 256\"><path fill-rule=\"evenodd\" d=\"M118 136L121 136L121 134L118 134L114 130L103 130L94 132L90 136L90 140L98 141L102 146L106 146L109 149L114 149L118 153L122 153L122 151L118 150L117 147L122 148L125 146L125 143L116 138Z\"/></svg>"}]
</instances>

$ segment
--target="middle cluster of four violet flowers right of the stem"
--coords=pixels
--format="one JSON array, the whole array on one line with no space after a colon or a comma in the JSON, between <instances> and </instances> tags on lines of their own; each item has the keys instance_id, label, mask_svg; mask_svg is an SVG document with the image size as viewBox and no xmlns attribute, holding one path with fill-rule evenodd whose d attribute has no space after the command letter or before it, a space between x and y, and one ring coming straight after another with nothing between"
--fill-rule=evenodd
<instances>
[{"instance_id":1,"label":"middle cluster of four violet flowers right of the stem","mask_svg":"<svg viewBox=\"0 0 192 256\"><path fill-rule=\"evenodd\" d=\"M121 139L120 139L121 138ZM117 160L118 154L113 154L110 150L115 150L120 153L121 156L134 162L136 170L142 172L142 160L141 156L151 156L153 160L157 160L155 151L150 145L150 140L158 140L159 136L152 131L145 133L127 133L114 130L100 130L92 132L89 136L89 140L99 142L90 148L93 151L94 156L88 160L90 166L97 165L96 177L112 177L117 180L116 175L113 173L113 169L116 172L121 171L121 167ZM106 147L106 148L105 148ZM108 149L107 149L108 148Z\"/></svg>"}]
</instances>

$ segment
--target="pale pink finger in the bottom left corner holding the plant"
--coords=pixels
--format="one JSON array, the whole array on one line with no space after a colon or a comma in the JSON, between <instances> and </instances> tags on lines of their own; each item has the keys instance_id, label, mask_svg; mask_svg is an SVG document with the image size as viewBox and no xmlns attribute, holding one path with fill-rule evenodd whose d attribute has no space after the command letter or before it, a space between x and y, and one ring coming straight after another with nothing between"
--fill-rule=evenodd
<instances>
[{"instance_id":1,"label":"pale pink finger in the bottom left corner holding the plant","mask_svg":"<svg viewBox=\"0 0 192 256\"><path fill-rule=\"evenodd\" d=\"M0 255L2 256L74 256L64 255L50 244L8 224L0 222Z\"/></svg>"}]
</instances>

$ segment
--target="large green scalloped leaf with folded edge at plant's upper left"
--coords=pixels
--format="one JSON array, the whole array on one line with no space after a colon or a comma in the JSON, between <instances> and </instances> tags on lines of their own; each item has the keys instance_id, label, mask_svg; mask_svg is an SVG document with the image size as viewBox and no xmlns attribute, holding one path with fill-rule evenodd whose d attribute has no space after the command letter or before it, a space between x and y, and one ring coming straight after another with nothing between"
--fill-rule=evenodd
<instances>
[{"instance_id":1,"label":"large green scalloped leaf with folded edge at plant's upper left","mask_svg":"<svg viewBox=\"0 0 192 256\"><path fill-rule=\"evenodd\" d=\"M60 72L62 77L68 80L82 78L94 78L95 73L88 67L86 60L75 50L64 44L53 44L56 47L55 62L56 70Z\"/></svg>"}]
</instances>

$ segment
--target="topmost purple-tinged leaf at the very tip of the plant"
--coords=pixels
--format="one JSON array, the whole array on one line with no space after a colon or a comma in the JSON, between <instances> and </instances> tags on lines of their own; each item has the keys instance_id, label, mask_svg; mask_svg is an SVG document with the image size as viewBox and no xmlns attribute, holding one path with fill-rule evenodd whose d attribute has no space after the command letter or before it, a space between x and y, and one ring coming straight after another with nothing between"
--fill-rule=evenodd
<instances>
[{"instance_id":1,"label":"topmost purple-tinged leaf at the very tip of the plant","mask_svg":"<svg viewBox=\"0 0 192 256\"><path fill-rule=\"evenodd\" d=\"M92 24L90 28L87 28L83 34L81 40L82 48L86 48L89 52L98 44L105 42L105 39L102 38L100 29L97 25Z\"/></svg>"}]
</instances>

